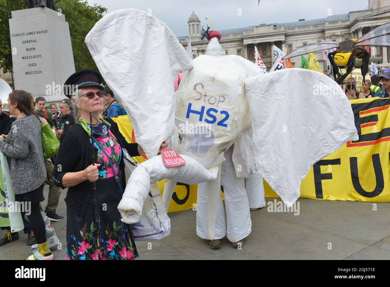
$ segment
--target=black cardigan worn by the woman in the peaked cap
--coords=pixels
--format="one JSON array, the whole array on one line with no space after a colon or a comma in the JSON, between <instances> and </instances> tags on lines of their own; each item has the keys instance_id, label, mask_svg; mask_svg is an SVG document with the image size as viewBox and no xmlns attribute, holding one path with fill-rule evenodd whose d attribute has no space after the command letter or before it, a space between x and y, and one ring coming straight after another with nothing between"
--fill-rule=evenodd
<instances>
[{"instance_id":1,"label":"black cardigan worn by the woman in the peaked cap","mask_svg":"<svg viewBox=\"0 0 390 287\"><path fill-rule=\"evenodd\" d=\"M110 130L119 142L122 148L126 149L130 156L139 156L138 144L129 144L124 136L119 132L116 122L112 119L105 119L111 124ZM95 159L97 158L97 149L94 147ZM80 124L74 124L63 136L58 150L55 167L53 170L53 181L56 186L64 189L62 186L62 177L67 172L79 172L92 165L92 151L90 138L87 132ZM123 156L119 168L122 172L123 190L126 186L124 173ZM113 188L116 188L113 187ZM72 213L83 216L88 202L93 195L93 183L89 180L80 182L75 186L70 186L65 198L66 206Z\"/></svg>"}]
</instances>

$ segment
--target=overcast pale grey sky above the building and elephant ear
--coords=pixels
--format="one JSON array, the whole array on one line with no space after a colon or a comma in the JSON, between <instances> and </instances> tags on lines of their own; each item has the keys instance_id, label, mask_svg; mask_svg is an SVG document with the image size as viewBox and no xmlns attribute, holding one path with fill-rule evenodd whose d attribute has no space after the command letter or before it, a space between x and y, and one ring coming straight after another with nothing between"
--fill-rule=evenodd
<instances>
[{"instance_id":1,"label":"overcast pale grey sky above the building and elephant ear","mask_svg":"<svg viewBox=\"0 0 390 287\"><path fill-rule=\"evenodd\" d=\"M194 2L195 4L191 4ZM298 19L326 18L347 14L349 11L364 10L368 0L88 0L90 5L106 7L108 13L117 9L137 8L151 13L163 21L177 37L188 35L188 17L192 10L198 15L200 25L206 25L209 16L215 30L225 30L259 25L262 23L284 23ZM262 9L261 9L262 6ZM241 9L241 16L238 16ZM329 10L331 9L331 10Z\"/></svg>"}]
</instances>

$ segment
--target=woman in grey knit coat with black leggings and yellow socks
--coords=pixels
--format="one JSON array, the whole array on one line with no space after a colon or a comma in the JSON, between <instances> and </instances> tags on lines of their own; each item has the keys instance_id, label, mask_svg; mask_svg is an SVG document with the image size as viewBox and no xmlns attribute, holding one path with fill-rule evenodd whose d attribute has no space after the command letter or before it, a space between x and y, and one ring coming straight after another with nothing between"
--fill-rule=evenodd
<instances>
[{"instance_id":1,"label":"woman in grey knit coat with black leggings and yellow socks","mask_svg":"<svg viewBox=\"0 0 390 287\"><path fill-rule=\"evenodd\" d=\"M23 90L8 96L9 112L16 116L8 135L2 135L0 151L11 158L11 181L15 200L23 202L22 210L34 232L38 251L28 260L51 260L46 230L39 202L44 200L46 168L43 158L40 120L34 112L33 97ZM29 214L29 215L28 215Z\"/></svg>"}]
</instances>

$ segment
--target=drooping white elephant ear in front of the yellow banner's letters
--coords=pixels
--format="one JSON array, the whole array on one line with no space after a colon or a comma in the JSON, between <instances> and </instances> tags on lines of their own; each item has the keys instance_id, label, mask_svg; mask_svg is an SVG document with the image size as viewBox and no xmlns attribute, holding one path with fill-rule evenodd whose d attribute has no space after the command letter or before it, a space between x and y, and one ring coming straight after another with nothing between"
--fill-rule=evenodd
<instances>
[{"instance_id":1,"label":"drooping white elephant ear in front of the yellow banner's letters","mask_svg":"<svg viewBox=\"0 0 390 287\"><path fill-rule=\"evenodd\" d=\"M290 207L310 167L358 140L351 104L328 76L283 69L245 80L256 165Z\"/></svg>"}]
</instances>

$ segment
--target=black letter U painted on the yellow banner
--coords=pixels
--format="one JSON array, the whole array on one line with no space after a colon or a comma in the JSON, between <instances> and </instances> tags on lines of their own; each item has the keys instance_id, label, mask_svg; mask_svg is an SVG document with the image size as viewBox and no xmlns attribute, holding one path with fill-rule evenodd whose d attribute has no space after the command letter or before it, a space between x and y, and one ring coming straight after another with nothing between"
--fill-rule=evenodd
<instances>
[{"instance_id":1,"label":"black letter U painted on the yellow banner","mask_svg":"<svg viewBox=\"0 0 390 287\"><path fill-rule=\"evenodd\" d=\"M351 166L351 178L352 184L355 190L364 197L376 197L383 191L385 182L383 180L383 172L381 167L381 159L379 154L372 155L372 164L374 165L376 186L375 189L371 192L363 190L359 181L359 171L358 171L358 158L349 158L349 165Z\"/></svg>"}]
</instances>

